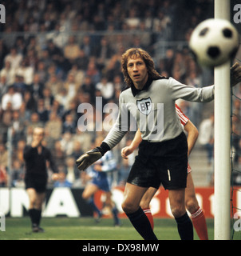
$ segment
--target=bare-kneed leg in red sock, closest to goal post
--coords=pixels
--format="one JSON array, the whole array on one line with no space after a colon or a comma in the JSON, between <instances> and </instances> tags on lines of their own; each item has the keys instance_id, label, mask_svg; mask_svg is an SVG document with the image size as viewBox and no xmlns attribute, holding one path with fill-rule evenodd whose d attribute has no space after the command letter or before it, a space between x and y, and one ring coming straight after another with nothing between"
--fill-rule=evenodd
<instances>
[{"instance_id":1,"label":"bare-kneed leg in red sock, closest to goal post","mask_svg":"<svg viewBox=\"0 0 241 256\"><path fill-rule=\"evenodd\" d=\"M195 188L192 180L192 173L188 174L187 188L185 191L186 207L191 214L192 224L198 234L200 240L208 240L207 223L203 213L196 199Z\"/></svg>"}]
</instances>

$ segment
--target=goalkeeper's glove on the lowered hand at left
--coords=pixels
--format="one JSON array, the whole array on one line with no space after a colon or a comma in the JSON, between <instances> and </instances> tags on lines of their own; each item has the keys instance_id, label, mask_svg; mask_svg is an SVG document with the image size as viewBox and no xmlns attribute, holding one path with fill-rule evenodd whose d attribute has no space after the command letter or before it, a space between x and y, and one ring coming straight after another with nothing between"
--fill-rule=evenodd
<instances>
[{"instance_id":1,"label":"goalkeeper's glove on the lowered hand at left","mask_svg":"<svg viewBox=\"0 0 241 256\"><path fill-rule=\"evenodd\" d=\"M102 158L101 150L96 147L93 150L89 150L85 154L82 154L76 160L78 170L86 170L89 166L91 166L94 162L97 162L100 158Z\"/></svg>"}]
</instances>

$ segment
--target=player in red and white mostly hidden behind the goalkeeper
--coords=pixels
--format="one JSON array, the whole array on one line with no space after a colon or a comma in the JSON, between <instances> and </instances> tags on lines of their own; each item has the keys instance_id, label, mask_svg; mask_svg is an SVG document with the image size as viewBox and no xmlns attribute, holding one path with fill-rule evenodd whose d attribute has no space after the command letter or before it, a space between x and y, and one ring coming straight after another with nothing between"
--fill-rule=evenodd
<instances>
[{"instance_id":1,"label":"player in red and white mostly hidden behind the goalkeeper","mask_svg":"<svg viewBox=\"0 0 241 256\"><path fill-rule=\"evenodd\" d=\"M184 126L184 130L188 133L188 156L190 155L193 146L196 143L196 139L198 137L198 130L196 126L192 124L189 118L180 110L180 107L176 105L176 113L180 118L180 122L182 126ZM125 159L128 158L129 154L132 154L134 150L139 146L142 141L140 136L140 130L136 132L136 136L133 139L130 146L126 146L121 150L121 156ZM207 224L206 219L203 213L203 210L200 208L199 203L196 199L196 193L194 189L194 184L192 181L192 169L188 164L188 178L187 178L187 188L185 190L185 203L186 207L191 214L192 223L194 228L196 229L196 233L198 234L200 240L208 240L207 235ZM152 212L150 210L150 202L154 195L156 194L157 189L150 187L145 192L143 198L140 201L140 207L144 210L144 214L148 217L148 220L154 228L154 222L152 217Z\"/></svg>"}]
</instances>

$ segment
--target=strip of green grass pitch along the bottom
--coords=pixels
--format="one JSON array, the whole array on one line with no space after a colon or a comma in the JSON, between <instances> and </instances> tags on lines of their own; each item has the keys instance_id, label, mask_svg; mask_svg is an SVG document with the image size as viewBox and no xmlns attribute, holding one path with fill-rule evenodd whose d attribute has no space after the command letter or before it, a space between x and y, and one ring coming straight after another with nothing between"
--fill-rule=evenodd
<instances>
[{"instance_id":1,"label":"strip of green grass pitch along the bottom","mask_svg":"<svg viewBox=\"0 0 241 256\"><path fill-rule=\"evenodd\" d=\"M154 231L160 240L180 240L175 220L155 218ZM113 220L103 218L42 218L45 233L32 233L30 218L6 218L6 231L0 231L0 240L142 240L128 219L114 227ZM207 219L209 238L213 239L213 219ZM241 233L241 232L239 232ZM195 240L199 240L196 232Z\"/></svg>"}]
</instances>

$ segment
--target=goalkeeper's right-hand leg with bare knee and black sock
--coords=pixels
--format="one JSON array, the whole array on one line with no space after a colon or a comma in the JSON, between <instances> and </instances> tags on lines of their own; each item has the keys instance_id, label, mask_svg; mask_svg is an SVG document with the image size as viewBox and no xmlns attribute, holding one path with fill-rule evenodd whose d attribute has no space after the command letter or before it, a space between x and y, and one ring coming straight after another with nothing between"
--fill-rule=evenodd
<instances>
[{"instance_id":1,"label":"goalkeeper's right-hand leg with bare knee and black sock","mask_svg":"<svg viewBox=\"0 0 241 256\"><path fill-rule=\"evenodd\" d=\"M193 227L185 208L185 189L169 190L169 200L180 238L182 240L192 240Z\"/></svg>"}]
</instances>

